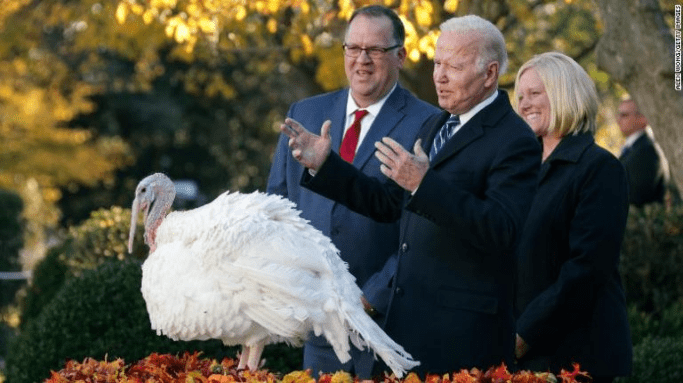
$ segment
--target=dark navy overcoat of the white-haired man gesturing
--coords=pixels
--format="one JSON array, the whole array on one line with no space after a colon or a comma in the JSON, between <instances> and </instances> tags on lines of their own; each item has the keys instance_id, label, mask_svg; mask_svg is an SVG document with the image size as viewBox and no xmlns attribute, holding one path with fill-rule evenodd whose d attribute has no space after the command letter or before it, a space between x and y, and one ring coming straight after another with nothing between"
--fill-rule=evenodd
<instances>
[{"instance_id":1,"label":"dark navy overcoat of the white-haired man gesturing","mask_svg":"<svg viewBox=\"0 0 683 383\"><path fill-rule=\"evenodd\" d=\"M385 330L422 363L415 369L422 374L513 361L513 249L541 147L498 92L445 144L414 195L334 153L315 177L303 174L306 187L361 214L400 220ZM434 116L421 130L425 152L448 117Z\"/></svg>"}]
</instances>

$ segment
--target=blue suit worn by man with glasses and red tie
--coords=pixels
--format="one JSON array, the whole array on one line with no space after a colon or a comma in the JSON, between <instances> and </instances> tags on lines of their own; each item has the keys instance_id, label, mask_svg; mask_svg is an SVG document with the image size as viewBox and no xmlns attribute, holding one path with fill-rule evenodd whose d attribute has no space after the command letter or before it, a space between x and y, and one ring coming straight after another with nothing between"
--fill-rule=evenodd
<instances>
[{"instance_id":1,"label":"blue suit worn by man with glasses and red tie","mask_svg":"<svg viewBox=\"0 0 683 383\"><path fill-rule=\"evenodd\" d=\"M338 153L345 124L348 92L347 88L299 101L291 106L288 117L316 134L320 134L325 120L331 120L332 150ZM424 121L438 111L438 108L417 99L397 85L358 147L353 166L370 177L386 179L374 156L375 142L389 136L401 145L412 148ZM398 225L378 223L301 188L301 173L304 168L292 157L287 144L288 137L282 134L268 178L268 193L279 194L295 202L302 212L301 216L332 239L340 250L342 259L348 263L349 271L356 277L356 283L362 287L371 275L382 268L387 258L396 252ZM367 288L372 291L374 287L370 284ZM370 295L375 296L372 293ZM313 373L344 369L359 376L369 375L373 355L356 352L353 359L355 366L342 366L323 338L312 338L304 347L304 368L311 368Z\"/></svg>"}]
</instances>

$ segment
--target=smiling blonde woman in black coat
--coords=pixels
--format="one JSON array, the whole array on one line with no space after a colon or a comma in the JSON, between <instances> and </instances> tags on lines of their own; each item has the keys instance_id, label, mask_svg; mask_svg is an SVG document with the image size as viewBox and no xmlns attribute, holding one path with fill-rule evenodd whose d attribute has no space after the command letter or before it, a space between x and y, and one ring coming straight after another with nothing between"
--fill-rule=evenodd
<instances>
[{"instance_id":1,"label":"smiling blonde woman in black coat","mask_svg":"<svg viewBox=\"0 0 683 383\"><path fill-rule=\"evenodd\" d=\"M632 364L619 274L626 172L593 139L597 92L571 58L550 52L523 64L515 98L543 144L517 249L518 367L559 373L579 363L593 382L611 382Z\"/></svg>"}]
</instances>

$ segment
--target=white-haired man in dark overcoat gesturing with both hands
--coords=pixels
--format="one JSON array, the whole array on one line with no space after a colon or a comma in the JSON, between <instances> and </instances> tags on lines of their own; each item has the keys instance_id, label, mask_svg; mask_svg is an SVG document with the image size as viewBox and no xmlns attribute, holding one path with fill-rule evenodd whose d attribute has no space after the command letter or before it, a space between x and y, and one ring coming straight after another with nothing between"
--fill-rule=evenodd
<instances>
[{"instance_id":1,"label":"white-haired man in dark overcoat gesturing with both hands","mask_svg":"<svg viewBox=\"0 0 683 383\"><path fill-rule=\"evenodd\" d=\"M541 147L498 90L506 63L490 22L444 22L433 79L445 111L423 126L413 153L388 137L375 144L388 180L331 151L327 122L320 136L291 119L280 127L308 168L306 187L377 221L400 221L385 330L422 363L421 374L513 362L513 252Z\"/></svg>"}]
</instances>

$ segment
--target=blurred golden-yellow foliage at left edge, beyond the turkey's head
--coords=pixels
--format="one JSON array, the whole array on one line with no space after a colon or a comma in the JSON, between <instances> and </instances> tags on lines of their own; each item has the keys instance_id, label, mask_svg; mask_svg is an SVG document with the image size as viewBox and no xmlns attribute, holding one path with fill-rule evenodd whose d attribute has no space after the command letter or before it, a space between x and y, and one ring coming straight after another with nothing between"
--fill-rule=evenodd
<instances>
[{"instance_id":1,"label":"blurred golden-yellow foliage at left edge, beyond the turkey's head","mask_svg":"<svg viewBox=\"0 0 683 383\"><path fill-rule=\"evenodd\" d=\"M92 111L96 92L68 73L47 54L0 62L0 188L35 200L26 203L34 206L29 218L47 226L59 218L47 207L61 198L60 187L94 185L132 161L121 139L66 126Z\"/></svg>"}]
</instances>

